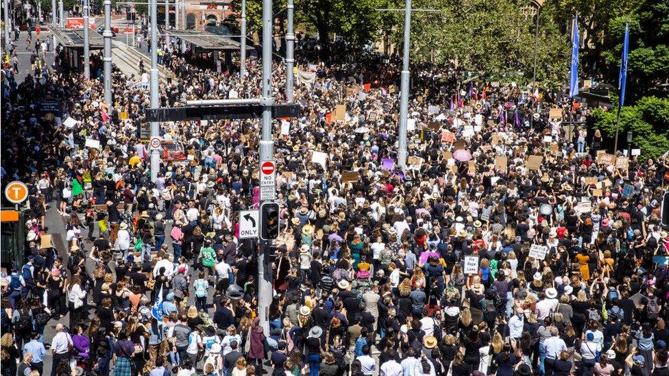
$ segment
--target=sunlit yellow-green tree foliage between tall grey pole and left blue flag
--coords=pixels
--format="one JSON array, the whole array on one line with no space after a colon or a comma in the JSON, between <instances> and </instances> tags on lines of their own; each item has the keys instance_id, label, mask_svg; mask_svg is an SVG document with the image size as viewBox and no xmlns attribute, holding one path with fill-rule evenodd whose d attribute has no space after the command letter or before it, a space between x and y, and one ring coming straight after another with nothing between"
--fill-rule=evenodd
<instances>
[{"instance_id":1,"label":"sunlit yellow-green tree foliage between tall grey pole and left blue flag","mask_svg":"<svg viewBox=\"0 0 669 376\"><path fill-rule=\"evenodd\" d=\"M487 0L418 0L413 8L441 12L412 14L411 48L414 60L452 64L459 72L493 79L531 80L534 66L534 16L529 2ZM537 81L559 86L569 64L569 40L555 21L556 3L539 14ZM402 38L402 22L394 29Z\"/></svg>"}]
</instances>

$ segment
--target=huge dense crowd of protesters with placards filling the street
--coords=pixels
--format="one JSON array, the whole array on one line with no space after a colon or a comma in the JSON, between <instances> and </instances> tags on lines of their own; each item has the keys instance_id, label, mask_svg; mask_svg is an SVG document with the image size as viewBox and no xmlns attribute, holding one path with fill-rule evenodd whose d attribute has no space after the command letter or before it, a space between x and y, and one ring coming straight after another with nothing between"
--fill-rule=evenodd
<instances>
[{"instance_id":1,"label":"huge dense crowd of protesters with placards filling the street","mask_svg":"<svg viewBox=\"0 0 669 376\"><path fill-rule=\"evenodd\" d=\"M256 58L217 73L173 42L161 106L259 96ZM301 61L300 117L273 127L265 331L239 236L258 121L162 123L183 151L151 181L140 77L114 69L108 107L59 53L39 79L3 71L3 181L29 186L27 259L0 279L3 375L669 375L669 162L607 153L585 103L420 66L402 168L398 61Z\"/></svg>"}]
</instances>

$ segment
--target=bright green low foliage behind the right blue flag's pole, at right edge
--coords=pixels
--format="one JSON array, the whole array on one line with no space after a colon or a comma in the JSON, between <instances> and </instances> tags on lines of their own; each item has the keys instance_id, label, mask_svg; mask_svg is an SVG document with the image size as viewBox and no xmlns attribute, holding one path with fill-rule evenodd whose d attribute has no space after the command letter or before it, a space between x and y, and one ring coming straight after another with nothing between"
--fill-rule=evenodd
<instances>
[{"instance_id":1,"label":"bright green low foliage behind the right blue flag's pole, at right edge","mask_svg":"<svg viewBox=\"0 0 669 376\"><path fill-rule=\"evenodd\" d=\"M607 138L616 137L617 109L595 110L594 128L601 129ZM669 98L643 97L635 105L620 111L620 135L631 129L633 147L641 149L643 160L658 158L669 150ZM619 136L624 138L624 136Z\"/></svg>"}]
</instances>

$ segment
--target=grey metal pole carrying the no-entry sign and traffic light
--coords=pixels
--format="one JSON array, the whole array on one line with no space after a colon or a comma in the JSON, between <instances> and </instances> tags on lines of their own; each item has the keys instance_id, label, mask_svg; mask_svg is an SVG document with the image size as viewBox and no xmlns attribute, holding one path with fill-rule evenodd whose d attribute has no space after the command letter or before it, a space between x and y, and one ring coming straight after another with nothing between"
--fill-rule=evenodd
<instances>
[{"instance_id":1,"label":"grey metal pole carrying the no-entry sign and traffic light","mask_svg":"<svg viewBox=\"0 0 669 376\"><path fill-rule=\"evenodd\" d=\"M274 155L274 142L271 135L272 31L272 0L263 0L263 97L260 98L260 105L263 106L263 138L260 140L261 165L265 161L273 160ZM260 325L263 326L265 336L269 335L269 305L272 298L272 270L271 265L266 261L267 255L265 254L269 250L270 242L271 240L259 240L260 249L258 251L258 317L260 317Z\"/></svg>"}]
</instances>

